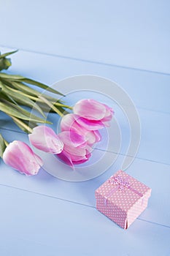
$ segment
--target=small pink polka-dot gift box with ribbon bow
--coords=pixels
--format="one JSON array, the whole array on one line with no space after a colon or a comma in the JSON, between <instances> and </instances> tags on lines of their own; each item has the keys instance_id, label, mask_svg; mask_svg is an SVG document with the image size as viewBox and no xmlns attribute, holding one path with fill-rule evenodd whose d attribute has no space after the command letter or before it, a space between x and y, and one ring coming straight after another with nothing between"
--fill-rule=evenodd
<instances>
[{"instance_id":1,"label":"small pink polka-dot gift box with ribbon bow","mask_svg":"<svg viewBox=\"0 0 170 256\"><path fill-rule=\"evenodd\" d=\"M147 208L150 194L149 187L118 170L96 189L96 208L117 225L127 229Z\"/></svg>"}]
</instances>

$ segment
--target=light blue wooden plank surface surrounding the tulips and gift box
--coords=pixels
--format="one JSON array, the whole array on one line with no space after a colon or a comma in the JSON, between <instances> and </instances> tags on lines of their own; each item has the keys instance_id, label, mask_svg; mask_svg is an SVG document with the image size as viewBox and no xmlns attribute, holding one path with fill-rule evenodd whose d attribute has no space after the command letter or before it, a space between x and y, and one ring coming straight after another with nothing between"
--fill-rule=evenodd
<instances>
[{"instance_id":1,"label":"light blue wooden plank surface surrounding the tulips and gift box","mask_svg":"<svg viewBox=\"0 0 170 256\"><path fill-rule=\"evenodd\" d=\"M170 255L169 10L168 0L0 2L1 53L19 49L8 72L49 85L99 75L125 89L142 125L139 152L126 171L152 188L146 211L122 230L96 211L94 197L121 161L83 182L45 170L26 177L1 162L0 255ZM0 115L8 140L28 142Z\"/></svg>"}]
</instances>

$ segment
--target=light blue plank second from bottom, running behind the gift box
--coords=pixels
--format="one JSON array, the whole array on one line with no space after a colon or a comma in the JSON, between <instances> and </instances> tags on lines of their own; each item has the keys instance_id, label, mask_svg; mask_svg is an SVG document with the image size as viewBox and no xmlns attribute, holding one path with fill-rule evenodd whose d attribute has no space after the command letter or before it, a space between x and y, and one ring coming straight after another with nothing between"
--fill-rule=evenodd
<instances>
[{"instance_id":1,"label":"light blue plank second from bottom, running behind the gift box","mask_svg":"<svg viewBox=\"0 0 170 256\"><path fill-rule=\"evenodd\" d=\"M22 136L22 134L18 134L20 140L26 141L25 136ZM59 179L54 178L43 169L37 176L27 177L1 163L0 184L58 197L88 206L95 206L95 190L104 183L109 176L112 176L113 173L120 169L124 157L121 155L117 157L117 154L98 150L94 151L93 154L94 157L91 158L91 165L82 169L82 178L79 169L77 173L69 170L69 168L61 165L56 159L54 162L53 157L47 157L47 154L44 154L45 157L43 157L45 160L44 168L50 173L55 173L55 176L59 177ZM98 157L100 162L98 161ZM115 159L116 161L114 162ZM109 167L111 164L113 165ZM161 163L136 158L126 171L130 173L131 176L138 178L140 181L144 182L144 184L147 184L148 187L152 188L150 208L147 209L142 218L151 222L158 222L162 225L170 225L170 165L163 165ZM91 173L95 173L95 175L98 173L99 175L102 172L103 174L101 176L88 180ZM87 181L69 182L74 181L77 176L80 177L80 180L84 178L87 179ZM63 180L61 180L61 178Z\"/></svg>"}]
</instances>

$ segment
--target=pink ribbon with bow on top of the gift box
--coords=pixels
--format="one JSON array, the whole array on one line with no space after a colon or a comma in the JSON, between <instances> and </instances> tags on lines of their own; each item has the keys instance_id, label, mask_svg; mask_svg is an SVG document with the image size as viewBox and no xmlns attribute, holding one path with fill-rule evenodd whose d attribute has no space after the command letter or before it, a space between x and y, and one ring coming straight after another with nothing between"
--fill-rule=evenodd
<instances>
[{"instance_id":1,"label":"pink ribbon with bow on top of the gift box","mask_svg":"<svg viewBox=\"0 0 170 256\"><path fill-rule=\"evenodd\" d=\"M121 192L125 192L125 188L131 189L131 191L133 191L134 193L136 193L137 195L139 195L140 197L142 197L142 193L140 193L139 191L137 191L136 189L133 189L133 187L131 187L131 182L128 181L128 177L127 178L123 178L120 175L117 176L112 176L109 179L109 183L111 183L112 185L117 185L116 187L114 186L113 189L110 190L110 192L107 194L107 196L104 197L104 204L105 206L107 206L107 200L108 198L117 191L117 189L120 189Z\"/></svg>"}]
</instances>

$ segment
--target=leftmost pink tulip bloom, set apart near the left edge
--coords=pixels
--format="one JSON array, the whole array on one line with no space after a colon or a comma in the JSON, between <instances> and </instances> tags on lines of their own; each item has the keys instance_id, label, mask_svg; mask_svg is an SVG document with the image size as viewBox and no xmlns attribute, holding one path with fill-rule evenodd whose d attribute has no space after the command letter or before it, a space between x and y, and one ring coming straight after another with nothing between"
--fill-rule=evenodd
<instances>
[{"instance_id":1,"label":"leftmost pink tulip bloom, set apart near the left edge","mask_svg":"<svg viewBox=\"0 0 170 256\"><path fill-rule=\"evenodd\" d=\"M9 143L3 154L4 162L20 173L35 175L43 165L42 159L34 154L31 148L22 141Z\"/></svg>"}]
</instances>

